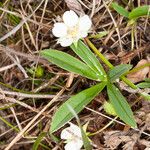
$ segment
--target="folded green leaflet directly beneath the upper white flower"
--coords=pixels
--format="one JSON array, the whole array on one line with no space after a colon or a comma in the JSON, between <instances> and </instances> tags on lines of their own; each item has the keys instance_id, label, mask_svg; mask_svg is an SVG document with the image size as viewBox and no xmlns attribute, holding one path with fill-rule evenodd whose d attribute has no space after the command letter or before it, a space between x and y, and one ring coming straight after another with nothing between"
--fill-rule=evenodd
<instances>
[{"instance_id":1,"label":"folded green leaflet directly beneath the upper white flower","mask_svg":"<svg viewBox=\"0 0 150 150\"><path fill-rule=\"evenodd\" d=\"M71 48L98 75L101 81L106 78L106 73L100 62L81 40L78 41L77 46L72 44Z\"/></svg>"}]
</instances>

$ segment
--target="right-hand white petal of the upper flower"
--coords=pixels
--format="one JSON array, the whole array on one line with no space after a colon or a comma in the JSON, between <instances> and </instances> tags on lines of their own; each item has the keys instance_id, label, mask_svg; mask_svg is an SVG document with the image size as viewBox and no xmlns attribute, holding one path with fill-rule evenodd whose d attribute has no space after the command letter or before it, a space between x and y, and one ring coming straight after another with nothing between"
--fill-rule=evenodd
<instances>
[{"instance_id":1,"label":"right-hand white petal of the upper flower","mask_svg":"<svg viewBox=\"0 0 150 150\"><path fill-rule=\"evenodd\" d=\"M88 31L92 26L92 21L88 15L84 15L79 20L79 30Z\"/></svg>"}]
</instances>

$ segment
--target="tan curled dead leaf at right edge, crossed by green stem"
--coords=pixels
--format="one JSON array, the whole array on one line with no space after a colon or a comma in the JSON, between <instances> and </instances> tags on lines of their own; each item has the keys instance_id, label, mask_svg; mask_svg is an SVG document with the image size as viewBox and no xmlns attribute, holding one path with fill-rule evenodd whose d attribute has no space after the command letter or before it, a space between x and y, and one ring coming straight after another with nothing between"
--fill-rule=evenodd
<instances>
[{"instance_id":1,"label":"tan curled dead leaf at right edge, crossed by green stem","mask_svg":"<svg viewBox=\"0 0 150 150\"><path fill-rule=\"evenodd\" d=\"M147 63L149 62L146 59L142 59L138 62L138 64L134 68L140 67ZM128 74L127 78L133 83L137 83L137 82L143 81L149 72L150 72L150 67L145 67L137 72Z\"/></svg>"}]
</instances>

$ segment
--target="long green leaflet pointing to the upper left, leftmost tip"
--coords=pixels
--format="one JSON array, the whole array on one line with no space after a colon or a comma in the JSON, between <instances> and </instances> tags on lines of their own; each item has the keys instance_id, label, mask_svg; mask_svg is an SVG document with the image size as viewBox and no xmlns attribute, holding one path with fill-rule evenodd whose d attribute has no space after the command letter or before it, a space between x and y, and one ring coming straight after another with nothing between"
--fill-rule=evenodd
<instances>
[{"instance_id":1,"label":"long green leaflet pointing to the upper left, leftmost tip","mask_svg":"<svg viewBox=\"0 0 150 150\"><path fill-rule=\"evenodd\" d=\"M85 63L81 62L80 60L72 57L69 54L58 50L43 50L41 55L46 58L48 61L58 65L59 67L80 74L84 77L87 77L92 80L100 81L100 78L93 70L87 66Z\"/></svg>"}]
</instances>

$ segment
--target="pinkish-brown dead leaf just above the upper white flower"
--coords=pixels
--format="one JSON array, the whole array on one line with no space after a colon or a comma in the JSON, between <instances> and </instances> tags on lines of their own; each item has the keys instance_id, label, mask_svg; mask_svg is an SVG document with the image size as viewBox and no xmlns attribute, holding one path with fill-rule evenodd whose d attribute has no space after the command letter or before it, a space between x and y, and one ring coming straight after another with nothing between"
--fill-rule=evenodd
<instances>
[{"instance_id":1,"label":"pinkish-brown dead leaf just above the upper white flower","mask_svg":"<svg viewBox=\"0 0 150 150\"><path fill-rule=\"evenodd\" d=\"M68 8L75 11L78 15L84 14L81 4L77 0L65 0Z\"/></svg>"}]
</instances>

